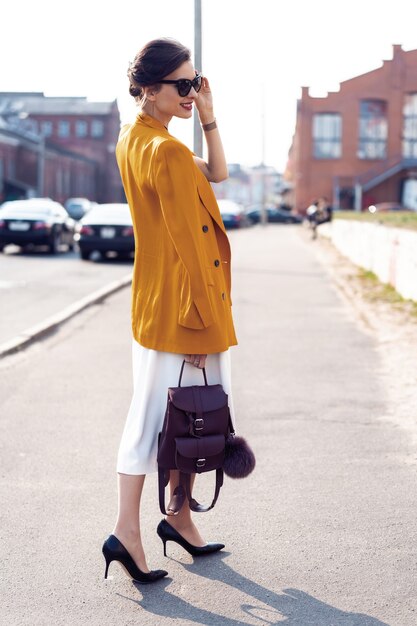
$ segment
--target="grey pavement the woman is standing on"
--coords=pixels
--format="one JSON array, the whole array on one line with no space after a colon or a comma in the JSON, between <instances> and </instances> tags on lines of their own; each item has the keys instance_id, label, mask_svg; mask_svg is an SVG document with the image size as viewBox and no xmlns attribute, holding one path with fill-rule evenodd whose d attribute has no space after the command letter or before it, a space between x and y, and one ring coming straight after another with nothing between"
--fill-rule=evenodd
<instances>
[{"instance_id":1,"label":"grey pavement the woman is standing on","mask_svg":"<svg viewBox=\"0 0 417 626\"><path fill-rule=\"evenodd\" d=\"M257 455L198 516L226 549L193 561L155 529L169 577L105 581L116 453L130 402L126 289L0 362L1 620L7 625L415 626L416 470L378 346L297 227L232 233L238 431ZM203 493L211 488L204 483Z\"/></svg>"}]
</instances>

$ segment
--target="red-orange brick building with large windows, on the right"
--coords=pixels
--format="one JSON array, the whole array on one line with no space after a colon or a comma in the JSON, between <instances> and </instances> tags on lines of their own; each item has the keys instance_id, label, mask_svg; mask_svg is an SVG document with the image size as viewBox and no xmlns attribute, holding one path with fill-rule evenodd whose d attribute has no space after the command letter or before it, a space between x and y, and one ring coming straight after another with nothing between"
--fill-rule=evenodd
<instances>
[{"instance_id":1,"label":"red-orange brick building with large windows, on the right","mask_svg":"<svg viewBox=\"0 0 417 626\"><path fill-rule=\"evenodd\" d=\"M324 98L303 87L285 178L300 212L320 196L417 209L417 50L394 45L392 60Z\"/></svg>"}]
</instances>

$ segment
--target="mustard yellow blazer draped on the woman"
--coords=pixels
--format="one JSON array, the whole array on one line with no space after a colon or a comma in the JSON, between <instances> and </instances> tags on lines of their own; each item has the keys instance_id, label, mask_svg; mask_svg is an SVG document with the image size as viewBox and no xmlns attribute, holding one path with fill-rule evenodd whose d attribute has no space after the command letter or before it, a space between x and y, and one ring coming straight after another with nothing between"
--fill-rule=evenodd
<instances>
[{"instance_id":1,"label":"mustard yellow blazer draped on the woman","mask_svg":"<svg viewBox=\"0 0 417 626\"><path fill-rule=\"evenodd\" d=\"M140 113L121 129L116 158L135 233L134 338L164 352L227 350L237 343L230 245L193 153Z\"/></svg>"}]
</instances>

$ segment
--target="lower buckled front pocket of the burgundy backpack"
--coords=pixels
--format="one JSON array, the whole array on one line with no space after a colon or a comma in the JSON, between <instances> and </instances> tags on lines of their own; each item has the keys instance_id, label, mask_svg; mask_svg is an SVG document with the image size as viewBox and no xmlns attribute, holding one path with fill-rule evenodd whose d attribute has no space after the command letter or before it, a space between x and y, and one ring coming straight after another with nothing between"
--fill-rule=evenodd
<instances>
[{"instance_id":1,"label":"lower buckled front pocket of the burgundy backpack","mask_svg":"<svg viewBox=\"0 0 417 626\"><path fill-rule=\"evenodd\" d=\"M225 441L224 435L176 437L177 468L187 474L201 474L222 467Z\"/></svg>"}]
</instances>

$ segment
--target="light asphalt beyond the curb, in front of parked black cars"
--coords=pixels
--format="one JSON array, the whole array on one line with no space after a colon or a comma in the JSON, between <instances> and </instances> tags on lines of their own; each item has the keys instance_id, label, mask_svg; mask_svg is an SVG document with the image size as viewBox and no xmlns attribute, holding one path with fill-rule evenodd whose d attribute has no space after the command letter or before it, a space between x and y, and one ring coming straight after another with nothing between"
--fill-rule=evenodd
<instances>
[{"instance_id":1,"label":"light asphalt beyond the curb, in front of parked black cars","mask_svg":"<svg viewBox=\"0 0 417 626\"><path fill-rule=\"evenodd\" d=\"M8 246L0 254L0 345L131 271L131 261L81 261L64 247L52 255Z\"/></svg>"}]
</instances>

